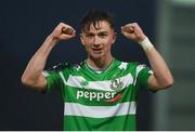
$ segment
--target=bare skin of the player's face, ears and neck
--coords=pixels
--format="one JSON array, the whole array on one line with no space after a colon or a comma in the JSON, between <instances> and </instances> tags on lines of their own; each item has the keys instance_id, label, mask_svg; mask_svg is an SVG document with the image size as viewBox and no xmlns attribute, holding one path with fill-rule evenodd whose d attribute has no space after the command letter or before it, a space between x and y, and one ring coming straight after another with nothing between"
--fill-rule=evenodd
<instances>
[{"instance_id":1,"label":"bare skin of the player's face, ears and neck","mask_svg":"<svg viewBox=\"0 0 195 132\"><path fill-rule=\"evenodd\" d=\"M91 25L88 31L81 34L80 40L88 53L87 63L94 68L106 68L113 61L110 49L116 40L116 32L105 21L96 26L98 29Z\"/></svg>"}]
</instances>

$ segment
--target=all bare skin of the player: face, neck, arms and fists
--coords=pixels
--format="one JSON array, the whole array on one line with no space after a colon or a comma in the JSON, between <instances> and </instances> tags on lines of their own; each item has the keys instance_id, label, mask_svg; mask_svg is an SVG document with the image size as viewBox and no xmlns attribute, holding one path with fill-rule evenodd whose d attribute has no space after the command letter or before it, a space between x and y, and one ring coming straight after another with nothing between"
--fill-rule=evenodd
<instances>
[{"instance_id":1,"label":"all bare skin of the player: face, neck, arms and fists","mask_svg":"<svg viewBox=\"0 0 195 132\"><path fill-rule=\"evenodd\" d=\"M68 30L68 31L65 31ZM143 41L146 36L136 23L127 24L121 27L121 34L129 40ZM30 88L42 91L47 87L47 80L41 74L51 50L61 40L69 40L76 36L75 29L64 23L60 23L48 36L39 50L29 61L23 76L22 82ZM87 63L94 68L106 68L113 61L110 48L116 40L116 32L105 21L98 23L98 28L90 25L88 31L80 35L81 43L88 53ZM155 48L145 51L154 75L148 78L150 88L157 91L173 84L172 75Z\"/></svg>"}]
</instances>

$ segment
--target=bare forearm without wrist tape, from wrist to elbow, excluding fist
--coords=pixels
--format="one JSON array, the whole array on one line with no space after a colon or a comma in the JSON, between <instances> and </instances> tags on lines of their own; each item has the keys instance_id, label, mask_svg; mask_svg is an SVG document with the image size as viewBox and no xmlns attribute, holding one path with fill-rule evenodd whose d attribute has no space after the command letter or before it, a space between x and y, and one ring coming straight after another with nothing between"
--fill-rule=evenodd
<instances>
[{"instance_id":1,"label":"bare forearm without wrist tape, from wrist to elbow, excluding fist","mask_svg":"<svg viewBox=\"0 0 195 132\"><path fill-rule=\"evenodd\" d=\"M42 45L39 48L39 50L35 53L35 55L29 61L23 74L22 81L24 84L29 85L29 87L39 85L38 81L40 79L42 70L44 69L47 58L56 42L57 41L54 40L51 36L49 36L44 40Z\"/></svg>"}]
</instances>

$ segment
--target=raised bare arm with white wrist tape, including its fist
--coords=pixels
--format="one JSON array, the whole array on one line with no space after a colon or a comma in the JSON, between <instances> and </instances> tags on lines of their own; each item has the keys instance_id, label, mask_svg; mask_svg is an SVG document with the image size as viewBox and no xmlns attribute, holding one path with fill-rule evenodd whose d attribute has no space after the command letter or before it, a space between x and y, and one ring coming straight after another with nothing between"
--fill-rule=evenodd
<instances>
[{"instance_id":1,"label":"raised bare arm with white wrist tape, including its fist","mask_svg":"<svg viewBox=\"0 0 195 132\"><path fill-rule=\"evenodd\" d=\"M127 24L121 27L121 34L128 39L138 42L144 49L154 71L154 75L148 78L150 88L153 90L162 90L171 87L173 84L173 77L166 62L150 42L140 26L136 23Z\"/></svg>"}]
</instances>

